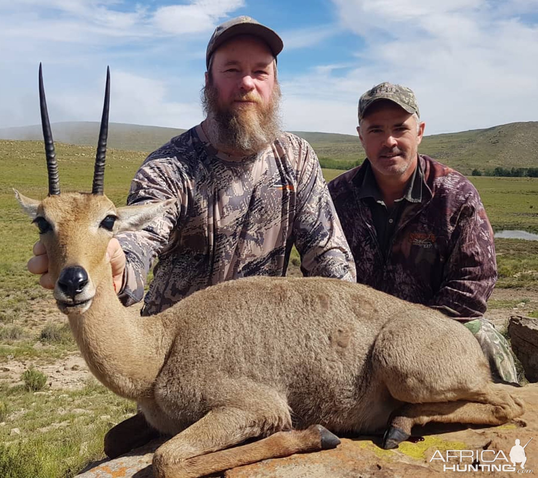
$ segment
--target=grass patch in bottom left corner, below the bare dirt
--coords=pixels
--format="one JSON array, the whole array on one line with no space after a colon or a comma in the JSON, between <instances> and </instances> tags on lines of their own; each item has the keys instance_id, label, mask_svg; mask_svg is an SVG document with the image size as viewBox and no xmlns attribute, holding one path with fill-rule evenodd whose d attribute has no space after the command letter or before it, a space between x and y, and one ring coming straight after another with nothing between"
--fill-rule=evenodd
<instances>
[{"instance_id":1,"label":"grass patch in bottom left corner, below the bare dirt","mask_svg":"<svg viewBox=\"0 0 538 478\"><path fill-rule=\"evenodd\" d=\"M102 458L111 425L136 412L94 379L81 390L0 388L9 413L0 426L0 476L70 478Z\"/></svg>"}]
</instances>

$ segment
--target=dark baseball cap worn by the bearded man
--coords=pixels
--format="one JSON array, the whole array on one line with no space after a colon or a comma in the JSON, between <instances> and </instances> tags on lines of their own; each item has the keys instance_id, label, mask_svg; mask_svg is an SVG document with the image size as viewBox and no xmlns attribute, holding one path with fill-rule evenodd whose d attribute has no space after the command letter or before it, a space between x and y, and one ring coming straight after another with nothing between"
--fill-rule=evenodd
<instances>
[{"instance_id":1,"label":"dark baseball cap worn by the bearded man","mask_svg":"<svg viewBox=\"0 0 538 478\"><path fill-rule=\"evenodd\" d=\"M261 38L266 42L273 56L277 58L277 55L284 48L284 42L271 28L262 25L251 17L246 15L242 17L232 18L228 22L224 22L218 25L209 40L206 50L206 68L209 68L209 60L211 55L215 53L215 50L220 47L225 41L236 35L254 35Z\"/></svg>"}]
</instances>

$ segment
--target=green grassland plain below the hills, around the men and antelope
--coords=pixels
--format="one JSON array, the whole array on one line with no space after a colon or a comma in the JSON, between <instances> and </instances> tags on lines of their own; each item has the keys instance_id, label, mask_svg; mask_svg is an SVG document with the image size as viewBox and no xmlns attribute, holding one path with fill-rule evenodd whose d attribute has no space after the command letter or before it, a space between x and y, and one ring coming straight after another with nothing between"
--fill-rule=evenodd
<instances>
[{"instance_id":1,"label":"green grassland plain below the hills, around the men and antelope","mask_svg":"<svg viewBox=\"0 0 538 478\"><path fill-rule=\"evenodd\" d=\"M332 149L328 146L327 154L332 156L331 151L337 150L336 155L345 158L351 142L339 139ZM95 148L58 143L56 153L62 191L90 190ZM144 158L141 151L109 149L105 192L116 204L125 203L130 180ZM330 180L342 170L323 173ZM38 332L28 332L27 327L36 308L52 301L50 292L26 271L38 234L20 210L12 188L43 198L46 177L43 142L0 140L0 365L8 358L42 363L76 349L72 340L58 331L52 333L50 326ZM538 179L473 177L472 181L495 229L538 232ZM495 245L498 287L537 289L538 241L499 239ZM292 262L298 269L297 254ZM111 424L133 412L134 404L93 381L77 391L32 392L20 386L0 386L0 423L6 422L0 426L0 476L74 476L86 463L102 457L103 435ZM15 428L20 437L10 434Z\"/></svg>"}]
</instances>

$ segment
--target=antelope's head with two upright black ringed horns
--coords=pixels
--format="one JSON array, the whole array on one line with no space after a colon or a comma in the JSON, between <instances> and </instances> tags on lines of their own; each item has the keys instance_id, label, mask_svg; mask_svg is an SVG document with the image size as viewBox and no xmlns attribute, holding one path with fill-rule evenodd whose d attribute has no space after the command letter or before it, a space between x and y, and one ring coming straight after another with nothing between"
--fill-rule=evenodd
<instances>
[{"instance_id":1,"label":"antelope's head with two upright black ringed horns","mask_svg":"<svg viewBox=\"0 0 538 478\"><path fill-rule=\"evenodd\" d=\"M175 199L168 199L158 203L116 208L103 194L109 97L110 71L107 68L93 188L91 193L60 194L58 164L39 65L39 99L47 159L48 196L43 201L37 201L23 196L17 190L15 195L39 229L39 238L47 251L48 272L55 284L54 298L58 308L69 314L86 312L100 284L113 287L110 264L106 260L110 239L122 231L142 229L175 203Z\"/></svg>"}]
</instances>

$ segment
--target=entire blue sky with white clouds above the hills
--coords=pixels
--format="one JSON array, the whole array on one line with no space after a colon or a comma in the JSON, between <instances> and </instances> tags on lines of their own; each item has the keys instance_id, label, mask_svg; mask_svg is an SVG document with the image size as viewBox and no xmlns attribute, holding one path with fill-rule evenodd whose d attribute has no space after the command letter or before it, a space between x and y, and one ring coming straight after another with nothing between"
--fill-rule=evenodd
<instances>
[{"instance_id":1,"label":"entire blue sky with white clouds above the hills","mask_svg":"<svg viewBox=\"0 0 538 478\"><path fill-rule=\"evenodd\" d=\"M51 122L200 122L207 41L250 15L284 40L284 126L355 134L360 94L415 91L426 134L538 120L538 0L0 0L0 127Z\"/></svg>"}]
</instances>

